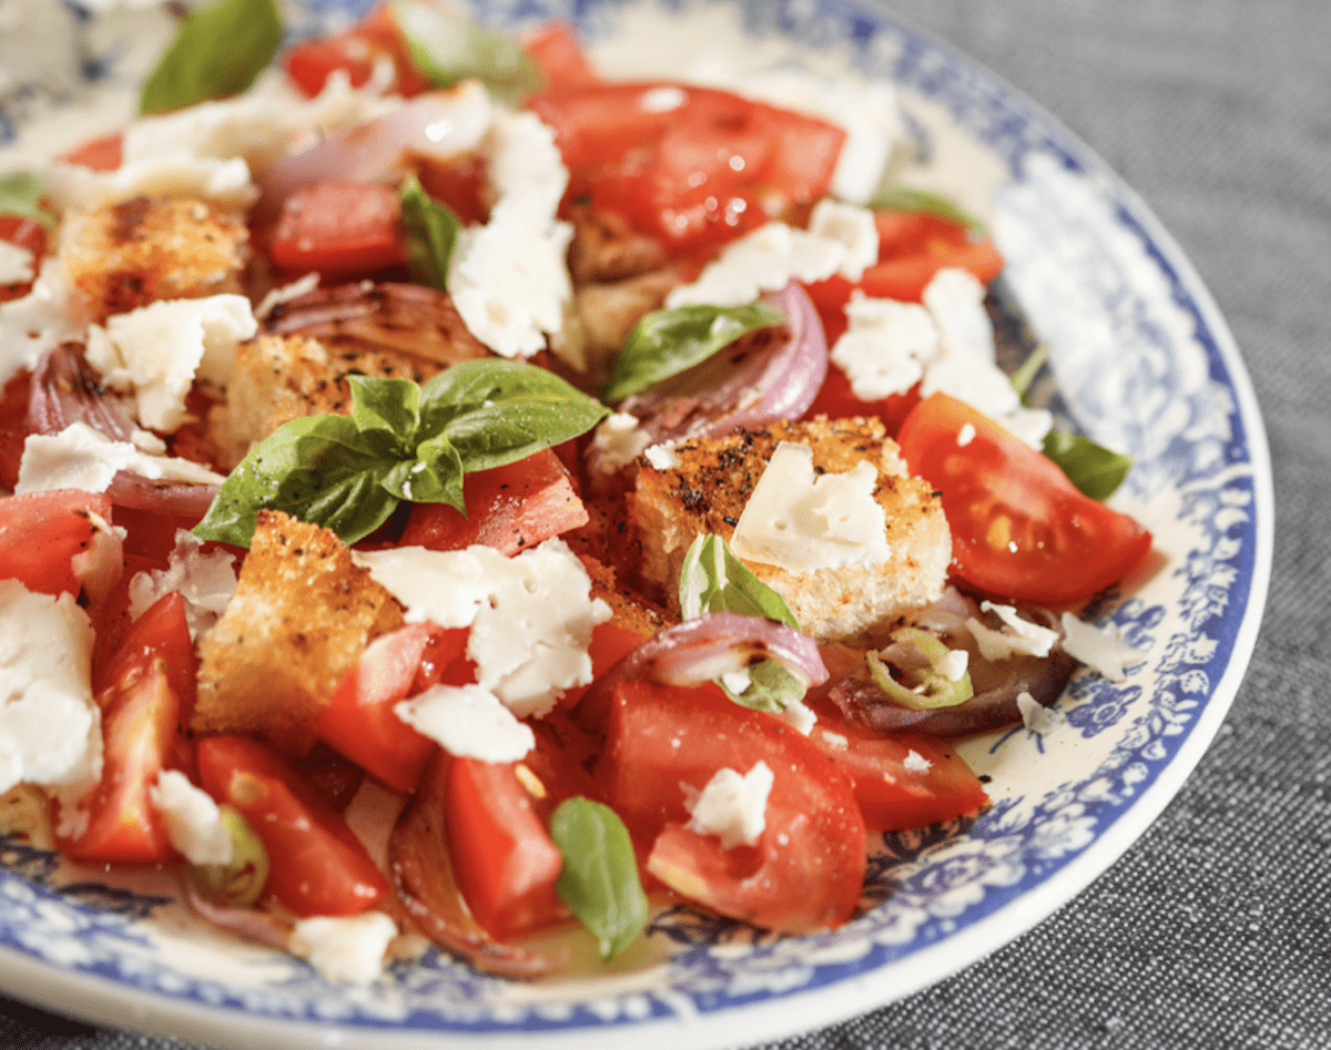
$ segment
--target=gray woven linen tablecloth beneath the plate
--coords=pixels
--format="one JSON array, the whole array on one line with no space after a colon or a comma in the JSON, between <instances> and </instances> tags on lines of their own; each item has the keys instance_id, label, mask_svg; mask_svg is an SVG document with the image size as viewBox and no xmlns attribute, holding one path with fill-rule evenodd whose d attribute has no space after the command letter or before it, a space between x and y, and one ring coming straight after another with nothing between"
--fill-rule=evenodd
<instances>
[{"instance_id":1,"label":"gray woven linen tablecloth beneath the plate","mask_svg":"<svg viewBox=\"0 0 1331 1050\"><path fill-rule=\"evenodd\" d=\"M896 0L1041 101L1182 244L1275 463L1270 600L1227 723L1163 816L988 960L781 1050L1331 1046L1331 4ZM181 1047L0 1001L12 1050Z\"/></svg>"}]
</instances>

